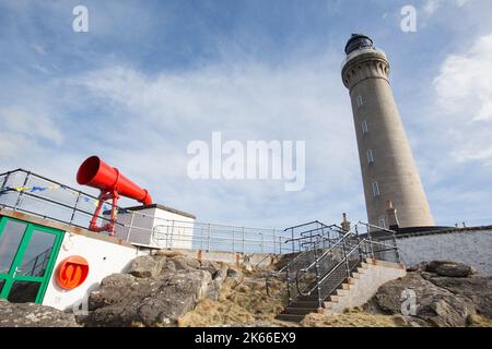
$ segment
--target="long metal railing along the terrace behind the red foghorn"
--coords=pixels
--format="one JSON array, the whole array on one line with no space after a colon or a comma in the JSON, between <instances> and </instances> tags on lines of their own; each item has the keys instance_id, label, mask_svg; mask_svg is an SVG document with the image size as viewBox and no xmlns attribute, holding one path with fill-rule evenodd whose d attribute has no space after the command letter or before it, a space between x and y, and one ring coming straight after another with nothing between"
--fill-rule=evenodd
<instances>
[{"instance_id":1,"label":"long metal railing along the terrace behind the red foghorn","mask_svg":"<svg viewBox=\"0 0 492 349\"><path fill-rule=\"evenodd\" d=\"M17 169L0 174L0 207L86 229L97 206L97 197ZM104 214L112 208L105 202L97 225L109 221ZM118 209L117 237L143 246L201 249L241 253L295 252L280 229L226 226L190 220L172 220L142 212ZM152 220L151 228L149 220Z\"/></svg>"}]
</instances>

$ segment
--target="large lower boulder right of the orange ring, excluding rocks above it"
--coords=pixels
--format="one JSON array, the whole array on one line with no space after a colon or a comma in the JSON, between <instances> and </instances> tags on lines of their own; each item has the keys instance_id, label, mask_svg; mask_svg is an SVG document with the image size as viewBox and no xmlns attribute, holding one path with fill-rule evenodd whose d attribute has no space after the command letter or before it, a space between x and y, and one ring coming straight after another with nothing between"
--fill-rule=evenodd
<instances>
[{"instance_id":1,"label":"large lower boulder right of the orange ring, excluding rocks above it","mask_svg":"<svg viewBox=\"0 0 492 349\"><path fill-rule=\"evenodd\" d=\"M211 280L209 272L197 269L178 270L159 278L110 276L90 297L93 312L87 325L174 326L198 300L207 297ZM117 285L125 290L117 290Z\"/></svg>"}]
</instances>

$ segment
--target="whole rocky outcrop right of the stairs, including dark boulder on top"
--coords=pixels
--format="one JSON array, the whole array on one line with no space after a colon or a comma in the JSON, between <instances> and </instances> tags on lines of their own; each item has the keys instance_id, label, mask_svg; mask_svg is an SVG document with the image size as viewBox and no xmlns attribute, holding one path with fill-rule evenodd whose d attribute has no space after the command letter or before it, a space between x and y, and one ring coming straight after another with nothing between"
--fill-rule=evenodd
<instances>
[{"instance_id":1,"label":"whole rocky outcrop right of the stairs, including dark boulder on top","mask_svg":"<svg viewBox=\"0 0 492 349\"><path fill-rule=\"evenodd\" d=\"M492 318L492 277L475 275L472 267L438 261L423 263L406 277L383 285L367 309L383 314L401 314L402 292L415 292L414 314L408 321L421 326L466 326L470 318Z\"/></svg>"}]
</instances>

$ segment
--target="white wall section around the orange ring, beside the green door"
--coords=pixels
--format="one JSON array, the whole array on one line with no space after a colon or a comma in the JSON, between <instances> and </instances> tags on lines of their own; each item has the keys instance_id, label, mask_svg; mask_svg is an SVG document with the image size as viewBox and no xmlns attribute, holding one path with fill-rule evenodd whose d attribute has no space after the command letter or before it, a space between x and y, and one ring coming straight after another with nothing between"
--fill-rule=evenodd
<instances>
[{"instance_id":1,"label":"white wall section around the orange ring, beside the green door","mask_svg":"<svg viewBox=\"0 0 492 349\"><path fill-rule=\"evenodd\" d=\"M137 254L138 250L134 248L66 232L43 305L60 310L71 308L75 302L86 299L90 291L98 288L103 278L114 273L124 272ZM78 288L63 290L56 282L56 270L59 263L71 255L80 255L87 260L89 275Z\"/></svg>"}]
</instances>

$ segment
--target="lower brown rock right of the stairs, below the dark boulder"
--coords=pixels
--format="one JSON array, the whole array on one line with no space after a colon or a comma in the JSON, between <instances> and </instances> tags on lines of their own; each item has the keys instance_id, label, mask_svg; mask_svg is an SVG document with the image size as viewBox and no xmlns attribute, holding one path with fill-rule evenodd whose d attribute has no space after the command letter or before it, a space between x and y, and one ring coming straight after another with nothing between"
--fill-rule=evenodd
<instances>
[{"instance_id":1,"label":"lower brown rock right of the stairs, below the dark boulder","mask_svg":"<svg viewBox=\"0 0 492 349\"><path fill-rule=\"evenodd\" d=\"M424 279L419 273L383 285L371 303L385 314L401 313L403 290L415 292L417 309L414 317L431 326L466 326L467 317L476 313L473 302L461 294L455 294Z\"/></svg>"}]
</instances>

